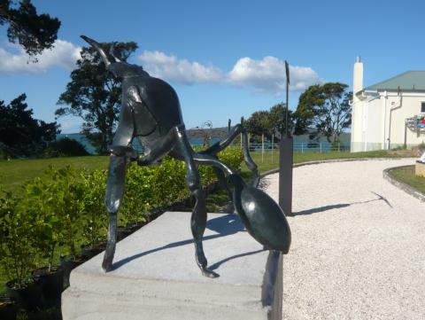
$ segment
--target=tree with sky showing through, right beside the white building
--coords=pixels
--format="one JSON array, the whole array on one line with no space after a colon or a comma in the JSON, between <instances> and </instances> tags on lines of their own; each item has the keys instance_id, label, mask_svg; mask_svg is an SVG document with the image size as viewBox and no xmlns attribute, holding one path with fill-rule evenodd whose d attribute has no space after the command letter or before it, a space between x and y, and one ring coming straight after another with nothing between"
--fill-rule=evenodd
<instances>
[{"instance_id":1,"label":"tree with sky showing through, right beside the white building","mask_svg":"<svg viewBox=\"0 0 425 320\"><path fill-rule=\"evenodd\" d=\"M352 123L352 92L347 88L344 83L328 82L305 90L299 97L295 133L310 133L312 139L323 136L329 143L336 142Z\"/></svg>"}]
</instances>

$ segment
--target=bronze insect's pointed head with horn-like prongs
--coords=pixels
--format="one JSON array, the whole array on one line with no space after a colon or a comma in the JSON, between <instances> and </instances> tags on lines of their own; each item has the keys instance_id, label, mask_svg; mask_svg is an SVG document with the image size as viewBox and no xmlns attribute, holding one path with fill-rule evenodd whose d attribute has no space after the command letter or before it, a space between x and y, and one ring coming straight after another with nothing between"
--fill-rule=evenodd
<instances>
[{"instance_id":1,"label":"bronze insect's pointed head with horn-like prongs","mask_svg":"<svg viewBox=\"0 0 425 320\"><path fill-rule=\"evenodd\" d=\"M108 57L108 55L100 47L99 43L85 35L81 35L81 38L84 39L87 43L89 43L93 48L95 48L97 52L99 52L100 57L104 61L104 65L106 66L108 71L110 71L116 77L126 78L133 76L149 76L149 74L143 70L142 66L131 65L127 62L123 62L118 59L114 54L113 44L111 46L111 50L109 51L109 55L113 59L111 62L110 57Z\"/></svg>"}]
</instances>

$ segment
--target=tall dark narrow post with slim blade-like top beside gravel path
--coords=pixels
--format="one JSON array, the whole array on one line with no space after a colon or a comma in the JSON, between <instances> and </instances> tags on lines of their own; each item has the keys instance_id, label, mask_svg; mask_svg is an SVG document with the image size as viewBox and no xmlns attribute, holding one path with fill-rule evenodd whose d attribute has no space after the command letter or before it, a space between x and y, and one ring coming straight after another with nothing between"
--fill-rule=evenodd
<instances>
[{"instance_id":1,"label":"tall dark narrow post with slim blade-like top beside gravel path","mask_svg":"<svg viewBox=\"0 0 425 320\"><path fill-rule=\"evenodd\" d=\"M286 70L286 112L285 112L285 132L281 134L280 145L280 168L279 168L279 206L285 215L292 215L292 165L294 142L290 136L288 112L289 112L289 91L290 91L290 65L285 60Z\"/></svg>"}]
</instances>

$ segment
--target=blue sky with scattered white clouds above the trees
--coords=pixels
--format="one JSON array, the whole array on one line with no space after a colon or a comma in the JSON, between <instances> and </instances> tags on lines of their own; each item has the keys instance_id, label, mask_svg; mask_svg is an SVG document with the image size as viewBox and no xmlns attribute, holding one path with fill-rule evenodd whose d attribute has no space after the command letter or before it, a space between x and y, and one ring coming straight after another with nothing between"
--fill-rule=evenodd
<instances>
[{"instance_id":1,"label":"blue sky with scattered white clouds above the trees","mask_svg":"<svg viewBox=\"0 0 425 320\"><path fill-rule=\"evenodd\" d=\"M55 121L59 95L79 59L80 35L98 42L138 44L128 60L176 90L186 128L214 128L268 110L285 100L284 61L290 63L290 109L308 86L352 86L357 56L364 84L408 70L425 70L425 2L387 0L189 1L33 0L38 13L62 24L54 49L29 62L0 27L0 100L21 93L34 116ZM58 119L62 133L81 120Z\"/></svg>"}]
</instances>

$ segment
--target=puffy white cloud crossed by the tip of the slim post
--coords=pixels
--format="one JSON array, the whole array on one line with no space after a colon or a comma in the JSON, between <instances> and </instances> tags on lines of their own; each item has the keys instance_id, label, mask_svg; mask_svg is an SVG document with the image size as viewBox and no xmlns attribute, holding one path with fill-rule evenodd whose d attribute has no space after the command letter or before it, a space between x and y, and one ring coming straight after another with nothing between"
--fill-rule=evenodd
<instances>
[{"instance_id":1,"label":"puffy white cloud crossed by the tip of the slim post","mask_svg":"<svg viewBox=\"0 0 425 320\"><path fill-rule=\"evenodd\" d=\"M228 73L228 82L279 95L286 90L285 63L274 57L262 60L242 58ZM290 90L305 90L320 82L319 74L311 67L290 66Z\"/></svg>"}]
</instances>

